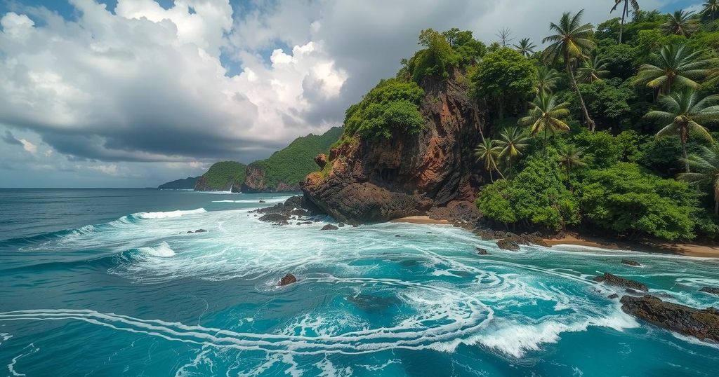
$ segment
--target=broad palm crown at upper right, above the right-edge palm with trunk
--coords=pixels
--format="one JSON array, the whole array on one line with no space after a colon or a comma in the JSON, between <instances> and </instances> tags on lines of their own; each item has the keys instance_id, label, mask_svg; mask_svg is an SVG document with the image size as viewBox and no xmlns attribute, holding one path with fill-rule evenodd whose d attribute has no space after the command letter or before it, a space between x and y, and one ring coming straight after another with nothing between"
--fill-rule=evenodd
<instances>
[{"instance_id":1,"label":"broad palm crown at upper right, above the right-edge palm with trunk","mask_svg":"<svg viewBox=\"0 0 719 377\"><path fill-rule=\"evenodd\" d=\"M659 54L649 55L649 61L651 64L639 68L635 82L658 89L660 94L669 94L674 85L699 88L695 80L705 78L712 64L681 43L661 47Z\"/></svg>"}]
</instances>

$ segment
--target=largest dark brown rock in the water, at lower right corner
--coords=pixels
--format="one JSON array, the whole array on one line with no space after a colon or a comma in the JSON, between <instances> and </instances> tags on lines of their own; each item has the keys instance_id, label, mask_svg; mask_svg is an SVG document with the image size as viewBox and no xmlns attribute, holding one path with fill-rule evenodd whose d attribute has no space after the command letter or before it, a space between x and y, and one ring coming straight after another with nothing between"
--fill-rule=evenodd
<instances>
[{"instance_id":1,"label":"largest dark brown rock in the water, at lower right corner","mask_svg":"<svg viewBox=\"0 0 719 377\"><path fill-rule=\"evenodd\" d=\"M713 307L696 309L664 302L651 295L624 296L620 302L624 312L652 325L700 340L719 342L719 310Z\"/></svg>"}]
</instances>

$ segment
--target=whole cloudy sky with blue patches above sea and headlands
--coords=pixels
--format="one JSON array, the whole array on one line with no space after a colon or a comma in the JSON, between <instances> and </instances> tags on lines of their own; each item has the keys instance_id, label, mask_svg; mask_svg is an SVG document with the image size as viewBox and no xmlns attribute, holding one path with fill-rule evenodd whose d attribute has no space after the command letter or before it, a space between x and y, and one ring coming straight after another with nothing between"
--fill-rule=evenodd
<instances>
[{"instance_id":1,"label":"whole cloudy sky with blue patches above sea and headlands","mask_svg":"<svg viewBox=\"0 0 719 377\"><path fill-rule=\"evenodd\" d=\"M640 0L695 9L700 0ZM344 110L421 29L549 22L605 0L0 0L0 187L155 187L263 159Z\"/></svg>"}]
</instances>

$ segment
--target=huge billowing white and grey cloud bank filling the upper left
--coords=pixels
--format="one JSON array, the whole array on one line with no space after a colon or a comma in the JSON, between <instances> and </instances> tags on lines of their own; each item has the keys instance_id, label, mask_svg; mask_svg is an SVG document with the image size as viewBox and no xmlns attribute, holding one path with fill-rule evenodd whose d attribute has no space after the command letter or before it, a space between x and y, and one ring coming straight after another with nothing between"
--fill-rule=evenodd
<instances>
[{"instance_id":1,"label":"huge billowing white and grey cloud bank filling the upper left","mask_svg":"<svg viewBox=\"0 0 719 377\"><path fill-rule=\"evenodd\" d=\"M275 50L270 64L237 52L243 70L221 65L232 27L228 1L119 0L114 10L70 1L77 19L48 12L0 19L0 122L30 129L76 159L251 161L301 134L312 98L338 96L347 75L321 42ZM41 25L41 26L40 26Z\"/></svg>"}]
</instances>

